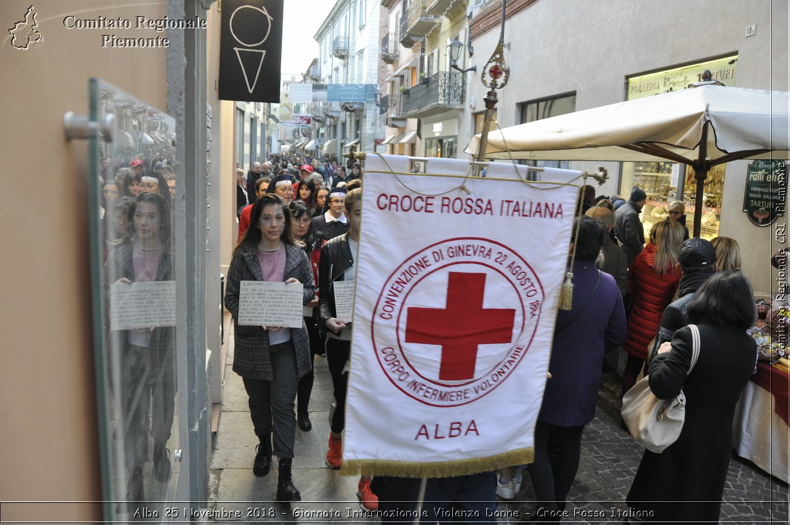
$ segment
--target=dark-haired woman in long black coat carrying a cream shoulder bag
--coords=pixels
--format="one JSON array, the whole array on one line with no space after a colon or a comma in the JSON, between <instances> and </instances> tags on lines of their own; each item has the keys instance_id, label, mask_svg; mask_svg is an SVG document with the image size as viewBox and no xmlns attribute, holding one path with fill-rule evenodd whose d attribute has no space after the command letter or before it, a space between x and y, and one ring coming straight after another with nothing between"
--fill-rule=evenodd
<instances>
[{"instance_id":1,"label":"dark-haired woman in long black coat carrying a cream shoulder bag","mask_svg":"<svg viewBox=\"0 0 790 525\"><path fill-rule=\"evenodd\" d=\"M747 278L718 272L698 289L688 309L700 334L689 373L691 329L675 331L650 362L650 390L660 399L683 389L686 413L678 440L656 454L645 450L626 498L645 521L718 523L732 453L735 403L754 370L756 348L746 330L757 320Z\"/></svg>"}]
</instances>

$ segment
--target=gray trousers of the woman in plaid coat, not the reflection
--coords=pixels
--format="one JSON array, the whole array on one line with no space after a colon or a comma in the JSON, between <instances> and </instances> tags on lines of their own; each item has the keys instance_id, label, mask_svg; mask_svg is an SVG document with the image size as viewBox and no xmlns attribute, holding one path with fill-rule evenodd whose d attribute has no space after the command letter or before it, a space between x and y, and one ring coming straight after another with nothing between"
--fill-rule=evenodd
<instances>
[{"instance_id":1,"label":"gray trousers of the woman in plaid coat, not the reflection","mask_svg":"<svg viewBox=\"0 0 790 525\"><path fill-rule=\"evenodd\" d=\"M294 402L299 385L295 354L292 341L269 346L274 380L242 378L244 389L250 396L250 417L255 435L265 437L274 430L272 452L279 458L294 457L296 436Z\"/></svg>"}]
</instances>

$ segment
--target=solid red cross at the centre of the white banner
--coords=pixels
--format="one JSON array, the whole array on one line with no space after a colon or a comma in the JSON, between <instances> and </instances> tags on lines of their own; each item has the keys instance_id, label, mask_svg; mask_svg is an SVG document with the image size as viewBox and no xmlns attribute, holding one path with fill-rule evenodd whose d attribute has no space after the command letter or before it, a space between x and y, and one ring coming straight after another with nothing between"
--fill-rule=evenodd
<instances>
[{"instance_id":1,"label":"solid red cross at the centre of the white banner","mask_svg":"<svg viewBox=\"0 0 790 525\"><path fill-rule=\"evenodd\" d=\"M442 346L439 380L475 375L480 345L513 338L512 308L483 308L486 274L450 272L445 308L408 308L406 342Z\"/></svg>"}]
</instances>

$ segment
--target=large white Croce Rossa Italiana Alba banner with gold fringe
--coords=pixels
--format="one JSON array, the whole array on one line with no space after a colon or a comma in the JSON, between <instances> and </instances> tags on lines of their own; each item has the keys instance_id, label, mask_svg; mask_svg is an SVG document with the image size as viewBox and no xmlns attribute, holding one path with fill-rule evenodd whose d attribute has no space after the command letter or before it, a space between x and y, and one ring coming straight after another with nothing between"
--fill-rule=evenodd
<instances>
[{"instance_id":1,"label":"large white Croce Rossa Italiana Alba banner with gold fringe","mask_svg":"<svg viewBox=\"0 0 790 525\"><path fill-rule=\"evenodd\" d=\"M527 184L524 166L504 163L486 178L465 178L467 161L425 164L429 175L412 175L407 157L367 155L344 474L532 460L581 182Z\"/></svg>"}]
</instances>

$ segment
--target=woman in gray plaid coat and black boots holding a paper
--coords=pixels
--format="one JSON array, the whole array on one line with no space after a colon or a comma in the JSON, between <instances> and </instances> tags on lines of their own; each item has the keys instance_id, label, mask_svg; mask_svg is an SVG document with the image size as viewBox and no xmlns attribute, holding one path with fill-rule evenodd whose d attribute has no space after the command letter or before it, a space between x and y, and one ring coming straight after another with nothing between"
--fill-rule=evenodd
<instances>
[{"instance_id":1,"label":"woman in gray plaid coat and black boots holding a paper","mask_svg":"<svg viewBox=\"0 0 790 525\"><path fill-rule=\"evenodd\" d=\"M233 251L225 288L225 306L233 315L233 371L242 376L250 396L250 416L260 440L253 463L256 476L269 474L272 454L279 457L276 498L299 501L291 477L299 378L310 372L307 327L240 326L239 288L243 281L302 283L303 304L315 296L313 272L291 232L291 212L282 198L266 194L250 212L250 228ZM272 448L272 430L274 448Z\"/></svg>"}]
</instances>

